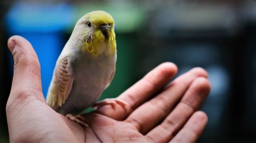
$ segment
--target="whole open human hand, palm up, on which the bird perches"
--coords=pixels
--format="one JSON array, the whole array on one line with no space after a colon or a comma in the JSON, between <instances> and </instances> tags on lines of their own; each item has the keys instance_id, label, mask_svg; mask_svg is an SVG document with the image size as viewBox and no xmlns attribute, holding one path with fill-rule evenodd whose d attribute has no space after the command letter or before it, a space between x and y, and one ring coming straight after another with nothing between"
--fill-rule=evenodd
<instances>
[{"instance_id":1,"label":"whole open human hand, palm up, on which the bird perches","mask_svg":"<svg viewBox=\"0 0 256 143\"><path fill-rule=\"evenodd\" d=\"M13 36L8 47L14 59L6 106L10 142L196 142L207 123L198 111L210 91L201 68L168 83L177 67L159 65L117 97L129 103L129 110L104 105L82 115L89 125L84 128L46 104L31 44Z\"/></svg>"}]
</instances>

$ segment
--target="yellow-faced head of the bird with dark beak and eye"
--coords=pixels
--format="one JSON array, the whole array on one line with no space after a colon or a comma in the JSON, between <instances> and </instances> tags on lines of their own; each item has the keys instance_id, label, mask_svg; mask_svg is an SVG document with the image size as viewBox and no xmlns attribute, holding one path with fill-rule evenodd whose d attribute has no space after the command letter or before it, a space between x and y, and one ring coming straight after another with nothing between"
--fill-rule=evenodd
<instances>
[{"instance_id":1,"label":"yellow-faced head of the bird with dark beak and eye","mask_svg":"<svg viewBox=\"0 0 256 143\"><path fill-rule=\"evenodd\" d=\"M94 55L116 52L114 19L104 11L92 11L81 17L73 33L82 40L83 48Z\"/></svg>"}]
</instances>

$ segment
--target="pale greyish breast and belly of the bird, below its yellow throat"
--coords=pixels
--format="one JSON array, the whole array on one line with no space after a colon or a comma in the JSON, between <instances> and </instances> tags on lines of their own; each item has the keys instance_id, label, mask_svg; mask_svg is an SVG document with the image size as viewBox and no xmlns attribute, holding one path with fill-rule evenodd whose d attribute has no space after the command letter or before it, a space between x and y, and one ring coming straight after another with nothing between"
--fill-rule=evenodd
<instances>
[{"instance_id":1,"label":"pale greyish breast and belly of the bird, below its yellow throat","mask_svg":"<svg viewBox=\"0 0 256 143\"><path fill-rule=\"evenodd\" d=\"M96 57L88 53L79 53L71 62L73 69L73 85L62 110L79 113L95 103L115 70L116 54Z\"/></svg>"}]
</instances>

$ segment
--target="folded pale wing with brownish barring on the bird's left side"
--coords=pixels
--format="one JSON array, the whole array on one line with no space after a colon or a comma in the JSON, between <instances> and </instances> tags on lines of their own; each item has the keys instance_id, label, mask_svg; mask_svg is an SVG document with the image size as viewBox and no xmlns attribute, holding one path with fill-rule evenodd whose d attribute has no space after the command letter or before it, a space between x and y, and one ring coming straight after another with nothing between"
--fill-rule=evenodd
<instances>
[{"instance_id":1,"label":"folded pale wing with brownish barring on the bird's left side","mask_svg":"<svg viewBox=\"0 0 256 143\"><path fill-rule=\"evenodd\" d=\"M47 94L47 103L54 110L68 98L73 84L73 74L68 56L58 59Z\"/></svg>"}]
</instances>

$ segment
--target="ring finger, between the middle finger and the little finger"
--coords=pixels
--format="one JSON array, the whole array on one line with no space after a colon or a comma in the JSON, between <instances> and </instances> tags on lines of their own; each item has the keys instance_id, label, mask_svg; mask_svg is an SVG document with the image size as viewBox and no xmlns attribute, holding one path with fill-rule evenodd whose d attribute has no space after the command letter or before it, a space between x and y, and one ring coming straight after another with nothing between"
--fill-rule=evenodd
<instances>
[{"instance_id":1,"label":"ring finger, between the middle finger and the little finger","mask_svg":"<svg viewBox=\"0 0 256 143\"><path fill-rule=\"evenodd\" d=\"M200 108L209 91L210 84L206 78L195 79L175 109L146 136L154 138L156 142L167 142L172 139L190 116Z\"/></svg>"}]
</instances>

